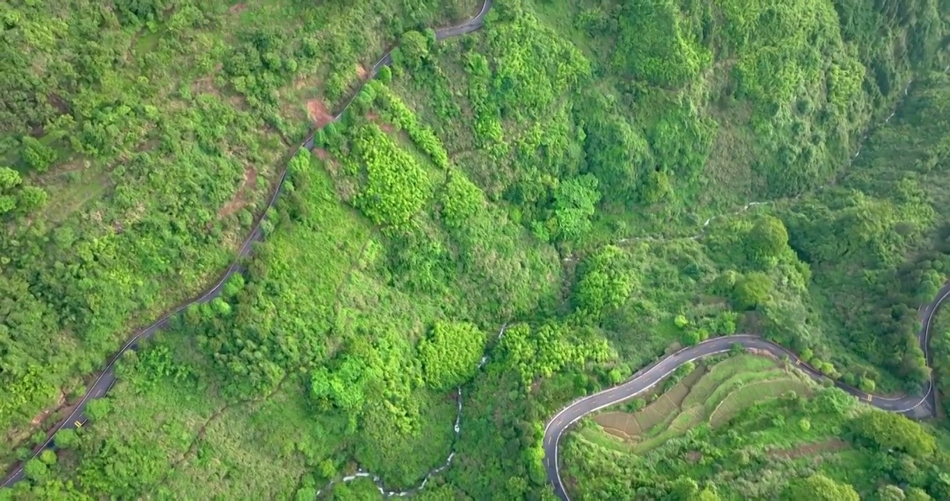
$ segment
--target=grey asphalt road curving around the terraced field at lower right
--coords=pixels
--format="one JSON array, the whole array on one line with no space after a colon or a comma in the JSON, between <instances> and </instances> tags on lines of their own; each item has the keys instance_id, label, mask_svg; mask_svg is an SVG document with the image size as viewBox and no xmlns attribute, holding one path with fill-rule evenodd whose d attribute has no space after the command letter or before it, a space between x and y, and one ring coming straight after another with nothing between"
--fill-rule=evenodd
<instances>
[{"instance_id":1,"label":"grey asphalt road curving around the terraced field at lower right","mask_svg":"<svg viewBox=\"0 0 950 501\"><path fill-rule=\"evenodd\" d=\"M948 297L950 297L950 284L940 289L940 292L938 292L937 297L932 303L921 308L921 330L917 338L918 342L921 343L921 349L926 357L928 366L932 362L929 351L930 327L933 323L934 314ZM561 436L564 435L571 425L588 414L595 413L615 403L636 397L652 388L660 380L672 374L680 365L686 362L693 362L703 357L709 357L710 355L726 353L731 350L733 344L739 344L746 349L768 352L775 357L788 357L789 361L794 362L799 369L812 379L828 379L814 367L808 365L806 362L802 362L796 354L788 349L758 336L746 334L723 336L683 348L639 370L637 374L634 374L634 376L626 382L595 393L594 395L575 400L561 409L561 412L547 422L544 428L542 443L544 449L544 470L547 473L548 481L554 486L555 494L563 501L570 501L567 492L564 490L563 482L561 481L561 470L560 464L558 463L558 447L561 444ZM937 411L937 399L934 395L934 383L932 378L923 385L921 388L921 396L919 397L878 397L854 388L853 386L849 386L839 380L834 380L833 382L836 386L845 390L845 392L866 403L885 411L901 413L908 418L931 418L935 416Z\"/></svg>"}]
</instances>

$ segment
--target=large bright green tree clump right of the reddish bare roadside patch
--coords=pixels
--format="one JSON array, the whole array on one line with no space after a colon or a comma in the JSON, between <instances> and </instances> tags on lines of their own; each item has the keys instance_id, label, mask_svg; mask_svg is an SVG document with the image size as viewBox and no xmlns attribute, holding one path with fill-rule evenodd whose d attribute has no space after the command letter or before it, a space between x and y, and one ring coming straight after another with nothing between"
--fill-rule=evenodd
<instances>
[{"instance_id":1,"label":"large bright green tree clump right of the reddish bare roadside patch","mask_svg":"<svg viewBox=\"0 0 950 501\"><path fill-rule=\"evenodd\" d=\"M356 205L376 224L409 223L431 193L425 169L373 124L354 131L353 154L368 172Z\"/></svg>"}]
</instances>

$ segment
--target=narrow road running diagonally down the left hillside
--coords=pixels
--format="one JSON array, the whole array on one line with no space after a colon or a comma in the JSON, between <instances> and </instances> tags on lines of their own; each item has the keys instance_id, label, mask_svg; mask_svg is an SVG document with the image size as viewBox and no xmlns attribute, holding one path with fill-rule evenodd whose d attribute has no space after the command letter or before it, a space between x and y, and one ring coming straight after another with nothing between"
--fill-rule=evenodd
<instances>
[{"instance_id":1,"label":"narrow road running diagonally down the left hillside","mask_svg":"<svg viewBox=\"0 0 950 501\"><path fill-rule=\"evenodd\" d=\"M456 25L456 26L448 27L448 28L436 29L435 31L436 40L445 40L447 38L463 35L463 34L475 31L478 28L482 28L482 24L485 21L485 14L487 14L488 10L491 9L492 2L493 0L484 0L483 3L481 4L481 8L479 9L478 13L460 25ZM381 58L379 58L376 64L372 65L372 69L366 81L364 81L364 83L361 83L355 89L355 91L351 94L350 99L347 102L345 102L343 107L340 108L340 111L337 112L333 116L333 121L339 120L340 117L343 115L343 113L346 112L347 108L350 107L350 103L352 102L352 100L356 97L357 94L359 94L359 91L362 90L363 84L365 84L366 82L371 80L373 77L375 77L376 74L379 72L380 68L382 68L385 65L392 64L392 50L394 49L395 49L395 46L390 47L390 49L387 50L387 52L383 54ZM295 153L297 149L299 148L306 148L307 150L313 150L315 134L316 134L316 130L312 131L311 134L307 137L307 139L305 139L298 148L295 148L294 152L292 153ZM103 371L99 374L96 380L93 381L93 383L89 386L88 390L86 390L83 398L80 399L79 402L75 404L75 406L73 406L72 412L70 412L69 415L66 416L66 418L61 420L59 423L56 424L55 427L53 427L51 430L48 431L47 439L33 450L33 454L30 455L28 459L33 459L36 456L40 455L40 453L42 453L43 451L47 450L48 448L53 447L53 436L55 436L56 432L60 430L65 430L65 429L74 429L85 424L85 421L86 421L85 406L89 403L90 400L100 399L104 397L105 394L108 393L109 389L112 388L112 385L115 384L115 381L116 381L115 365L116 365L116 362L118 362L119 359L122 358L125 352L129 350L132 350L132 351L137 350L139 348L139 343L143 339L151 338L153 335L155 335L156 332L158 332L159 330L167 326L169 320L172 317L174 317L175 315L178 315L181 311L187 309L189 306L207 303L208 301L211 301L215 299L216 297L218 297L218 295L220 295L221 290L223 290L224 288L225 282L227 282L227 280L231 278L232 275L234 275L235 273L241 272L243 270L243 265L242 265L243 259L251 254L253 244L255 242L260 241L263 238L264 233L261 230L260 222L263 219L264 214L266 214L268 211L271 210L271 208L274 207L277 201L277 197L283 191L284 181L286 179L287 179L287 167L285 165L283 170L280 172L280 176L277 178L276 187L274 189L274 192L270 195L270 198L267 201L267 206L257 216L257 220L254 223L253 230L248 235L248 237L244 240L244 243L241 245L240 249L237 251L237 257L235 261L231 264L230 267L228 267L228 269L224 271L224 274L221 275L220 279L218 279L218 282L216 282L215 285L212 286L211 288L206 289L198 297L190 301L187 301L181 304L180 306L177 306L176 308L172 309L168 313L165 313L164 315L161 316L159 320L155 321L152 325L148 325L147 327L144 327L141 330L138 330L135 333L133 333L132 336L128 338L128 340L122 345L122 347L120 347L118 351L116 351L111 357L109 357L108 361L105 363L105 367ZM25 464L26 464L26 461L20 461L14 464L10 473L8 473L7 476L3 478L3 482L0 483L0 488L10 487L14 483L22 480L24 478L23 467Z\"/></svg>"}]
</instances>

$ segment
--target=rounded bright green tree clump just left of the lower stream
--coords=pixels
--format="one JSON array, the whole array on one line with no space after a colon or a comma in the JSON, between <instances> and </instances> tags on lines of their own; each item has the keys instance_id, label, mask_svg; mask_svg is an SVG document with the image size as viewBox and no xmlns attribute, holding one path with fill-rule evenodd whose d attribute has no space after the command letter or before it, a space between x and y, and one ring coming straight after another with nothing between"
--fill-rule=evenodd
<instances>
[{"instance_id":1,"label":"rounded bright green tree clump just left of the lower stream","mask_svg":"<svg viewBox=\"0 0 950 501\"><path fill-rule=\"evenodd\" d=\"M485 351L485 333L472 324L439 322L417 349L426 383L433 389L445 390L475 373Z\"/></svg>"}]
</instances>

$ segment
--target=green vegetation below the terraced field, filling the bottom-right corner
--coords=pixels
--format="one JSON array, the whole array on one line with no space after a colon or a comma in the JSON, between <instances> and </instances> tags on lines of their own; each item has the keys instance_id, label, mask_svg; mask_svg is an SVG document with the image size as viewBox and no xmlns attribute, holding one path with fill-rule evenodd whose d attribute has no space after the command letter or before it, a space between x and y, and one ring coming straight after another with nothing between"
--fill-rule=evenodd
<instances>
[{"instance_id":1,"label":"green vegetation below the terraced field, filling the bottom-right corner","mask_svg":"<svg viewBox=\"0 0 950 501\"><path fill-rule=\"evenodd\" d=\"M712 366L706 377L727 372L737 360ZM731 395L772 381L750 382ZM575 486L571 499L927 500L947 494L942 472L950 455L936 447L945 443L945 430L859 404L833 387L802 384L807 392L776 387L757 394L728 421L677 429L674 420L667 439L649 449L618 447L587 425L567 436L561 451L561 475Z\"/></svg>"}]
</instances>

